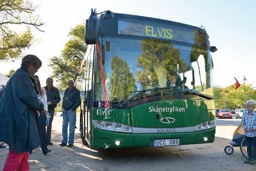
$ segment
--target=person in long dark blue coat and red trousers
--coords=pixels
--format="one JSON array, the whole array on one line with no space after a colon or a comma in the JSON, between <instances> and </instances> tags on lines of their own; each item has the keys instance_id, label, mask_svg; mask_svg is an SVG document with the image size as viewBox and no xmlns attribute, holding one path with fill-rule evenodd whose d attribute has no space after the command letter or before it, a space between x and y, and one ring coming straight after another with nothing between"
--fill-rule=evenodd
<instances>
[{"instance_id":1,"label":"person in long dark blue coat and red trousers","mask_svg":"<svg viewBox=\"0 0 256 171\"><path fill-rule=\"evenodd\" d=\"M44 104L38 99L33 76L41 66L37 56L26 55L0 101L0 141L9 144L10 150L3 171L29 170L29 151L40 145L35 117Z\"/></svg>"}]
</instances>

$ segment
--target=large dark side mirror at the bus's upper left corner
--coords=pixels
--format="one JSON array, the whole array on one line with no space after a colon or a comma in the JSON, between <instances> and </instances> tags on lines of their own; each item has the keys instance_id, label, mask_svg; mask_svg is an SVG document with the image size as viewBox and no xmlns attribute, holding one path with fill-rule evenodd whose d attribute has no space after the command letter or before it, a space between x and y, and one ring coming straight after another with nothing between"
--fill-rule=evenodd
<instances>
[{"instance_id":1,"label":"large dark side mirror at the bus's upper left corner","mask_svg":"<svg viewBox=\"0 0 256 171\"><path fill-rule=\"evenodd\" d=\"M88 20L86 20L85 26L85 42L88 45L97 43L97 15L91 11L91 15Z\"/></svg>"}]
</instances>

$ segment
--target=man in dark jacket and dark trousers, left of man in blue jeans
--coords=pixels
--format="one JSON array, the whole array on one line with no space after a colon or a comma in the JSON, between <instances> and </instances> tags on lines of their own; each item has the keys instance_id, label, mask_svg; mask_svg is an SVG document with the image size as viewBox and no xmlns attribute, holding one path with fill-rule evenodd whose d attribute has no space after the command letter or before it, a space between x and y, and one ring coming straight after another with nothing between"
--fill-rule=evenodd
<instances>
[{"instance_id":1,"label":"man in dark jacket and dark trousers, left of man in blue jeans","mask_svg":"<svg viewBox=\"0 0 256 171\"><path fill-rule=\"evenodd\" d=\"M48 112L51 115L49 126L47 126L46 137L47 144L52 145L51 142L51 132L52 132L52 120L54 117L54 109L60 102L60 92L59 89L53 86L53 79L51 77L46 79L46 86L44 87L47 96Z\"/></svg>"}]
</instances>

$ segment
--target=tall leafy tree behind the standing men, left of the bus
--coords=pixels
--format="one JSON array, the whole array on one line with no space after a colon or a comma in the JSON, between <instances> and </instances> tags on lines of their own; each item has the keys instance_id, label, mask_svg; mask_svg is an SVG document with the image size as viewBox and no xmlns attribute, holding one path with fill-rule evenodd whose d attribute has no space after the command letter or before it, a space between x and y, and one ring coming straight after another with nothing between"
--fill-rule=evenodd
<instances>
[{"instance_id":1,"label":"tall leafy tree behind the standing men, left of the bus","mask_svg":"<svg viewBox=\"0 0 256 171\"><path fill-rule=\"evenodd\" d=\"M70 39L62 50L60 56L53 56L50 59L49 66L53 69L52 77L57 79L57 87L63 90L67 87L69 79L76 80L76 72L79 70L83 54L86 52L87 46L84 40L84 25L77 25L68 33ZM86 66L86 62L84 63ZM82 70L82 78L84 79Z\"/></svg>"}]
</instances>

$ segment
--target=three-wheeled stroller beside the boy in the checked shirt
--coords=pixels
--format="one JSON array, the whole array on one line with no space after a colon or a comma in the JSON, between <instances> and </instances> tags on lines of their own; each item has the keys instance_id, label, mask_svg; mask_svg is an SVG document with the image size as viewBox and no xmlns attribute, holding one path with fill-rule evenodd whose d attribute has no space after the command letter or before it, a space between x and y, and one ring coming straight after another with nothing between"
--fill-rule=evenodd
<instances>
[{"instance_id":1,"label":"three-wheeled stroller beside the boy in the checked shirt","mask_svg":"<svg viewBox=\"0 0 256 171\"><path fill-rule=\"evenodd\" d=\"M230 145L225 146L224 151L226 154L233 154L234 148L233 146L239 146L241 153L247 159L247 149L245 142L244 129L242 127L242 123L236 128L236 131L233 134L233 139L230 142Z\"/></svg>"}]
</instances>

